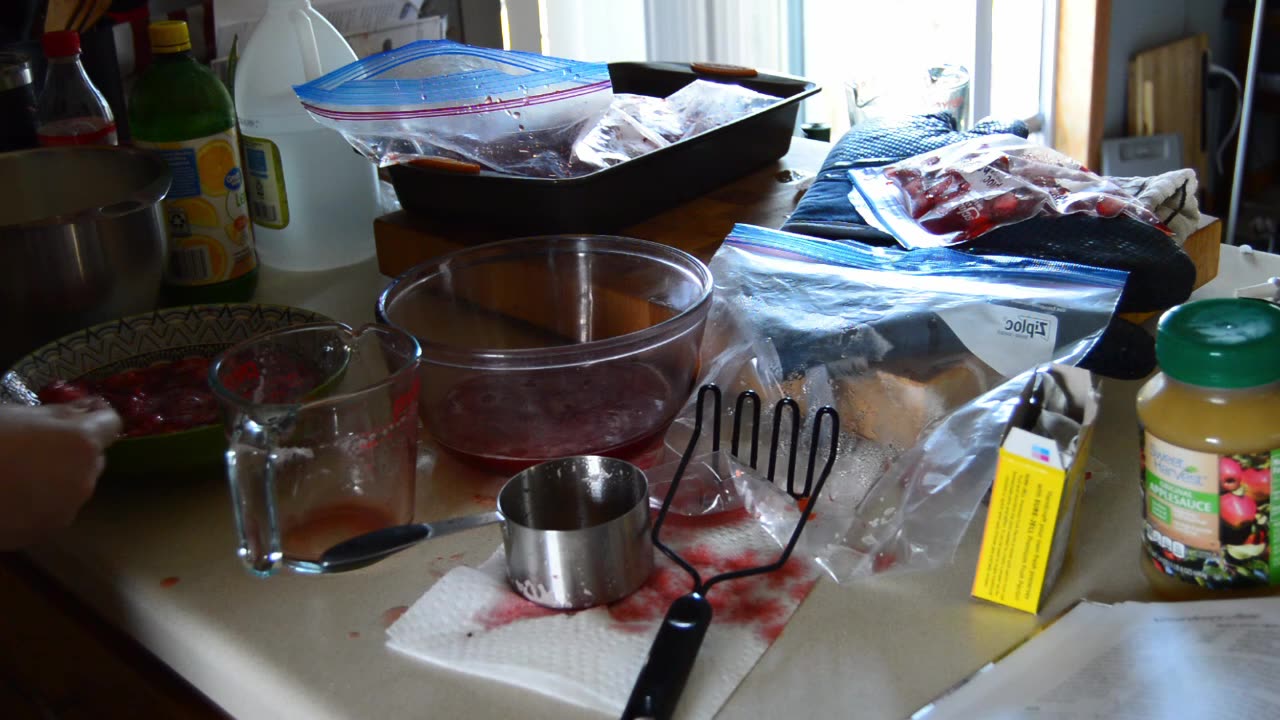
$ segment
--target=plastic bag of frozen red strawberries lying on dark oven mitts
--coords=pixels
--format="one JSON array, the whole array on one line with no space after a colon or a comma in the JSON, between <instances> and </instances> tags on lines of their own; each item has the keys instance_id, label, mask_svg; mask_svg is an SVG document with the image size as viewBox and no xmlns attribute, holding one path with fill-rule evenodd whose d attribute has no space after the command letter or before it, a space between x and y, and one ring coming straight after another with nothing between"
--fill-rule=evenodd
<instances>
[{"instance_id":1,"label":"plastic bag of frozen red strawberries lying on dark oven mitts","mask_svg":"<svg viewBox=\"0 0 1280 720\"><path fill-rule=\"evenodd\" d=\"M905 247L957 245L1037 215L1124 214L1169 229L1142 202L1066 155L1015 135L987 135L850 170L849 200Z\"/></svg>"}]
</instances>

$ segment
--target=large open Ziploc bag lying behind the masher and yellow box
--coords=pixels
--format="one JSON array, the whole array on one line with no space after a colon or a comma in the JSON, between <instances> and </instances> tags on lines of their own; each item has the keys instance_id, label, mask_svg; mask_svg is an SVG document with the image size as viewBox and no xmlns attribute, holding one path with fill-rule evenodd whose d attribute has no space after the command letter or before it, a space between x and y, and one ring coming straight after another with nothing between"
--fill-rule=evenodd
<instances>
[{"instance_id":1,"label":"large open Ziploc bag lying behind the masher and yellow box","mask_svg":"<svg viewBox=\"0 0 1280 720\"><path fill-rule=\"evenodd\" d=\"M700 380L726 397L754 389L763 407L790 396L801 418L823 405L840 413L840 454L799 546L840 582L950 561L1032 369L1074 365L1105 342L1126 277L751 225L733 228L710 270ZM690 406L667 436L672 451L692 421ZM760 428L762 443L771 432ZM803 465L808 441L799 447ZM783 487L791 459L777 466ZM682 511L745 503L786 542L795 503L771 500L781 491L751 473L732 475L737 502L703 492L714 506Z\"/></svg>"}]
</instances>

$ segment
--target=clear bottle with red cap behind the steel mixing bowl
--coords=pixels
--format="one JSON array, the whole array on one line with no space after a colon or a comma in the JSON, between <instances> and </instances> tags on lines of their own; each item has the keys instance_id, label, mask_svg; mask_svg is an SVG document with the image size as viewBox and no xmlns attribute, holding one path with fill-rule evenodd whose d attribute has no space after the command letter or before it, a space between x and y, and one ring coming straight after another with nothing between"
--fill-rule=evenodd
<instances>
[{"instance_id":1,"label":"clear bottle with red cap behind the steel mixing bowl","mask_svg":"<svg viewBox=\"0 0 1280 720\"><path fill-rule=\"evenodd\" d=\"M44 146L115 145L115 117L79 60L79 33L46 32L41 38L49 69L36 111Z\"/></svg>"}]
</instances>

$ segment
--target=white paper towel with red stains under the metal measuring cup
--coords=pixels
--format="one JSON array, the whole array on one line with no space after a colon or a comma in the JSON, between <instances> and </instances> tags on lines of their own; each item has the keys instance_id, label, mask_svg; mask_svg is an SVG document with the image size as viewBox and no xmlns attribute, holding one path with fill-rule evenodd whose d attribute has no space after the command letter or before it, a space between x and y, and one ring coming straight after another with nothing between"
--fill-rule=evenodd
<instances>
[{"instance_id":1,"label":"white paper towel with red stains under the metal measuring cup","mask_svg":"<svg viewBox=\"0 0 1280 720\"><path fill-rule=\"evenodd\" d=\"M703 519L668 516L662 539L703 578L768 564L777 543L744 510ZM771 574L718 584L714 615L680 717L710 717L764 655L817 582L792 557ZM508 585L502 548L480 568L456 568L388 628L388 647L419 660L509 683L617 716L631 694L671 601L692 588L662 553L639 591L577 612L534 605Z\"/></svg>"}]
</instances>

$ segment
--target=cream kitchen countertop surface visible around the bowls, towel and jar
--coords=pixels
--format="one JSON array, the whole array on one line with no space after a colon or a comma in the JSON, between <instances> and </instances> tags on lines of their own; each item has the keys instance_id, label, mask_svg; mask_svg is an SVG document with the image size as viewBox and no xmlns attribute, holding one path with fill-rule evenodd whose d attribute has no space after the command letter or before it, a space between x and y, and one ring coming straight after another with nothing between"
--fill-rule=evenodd
<instances>
[{"instance_id":1,"label":"cream kitchen countertop surface visible around the bowls, towel and jar","mask_svg":"<svg viewBox=\"0 0 1280 720\"><path fill-rule=\"evenodd\" d=\"M1280 256L1221 250L1230 295L1280 275ZM370 260L328 273L265 270L259 299L348 323L372 319L385 284ZM847 587L823 579L722 708L724 717L905 717L1029 635L1075 600L1152 600L1138 571L1140 383L1105 380L1074 556L1036 618L969 598L980 524L947 569ZM420 468L417 516L474 511L500 479L447 461ZM500 544L495 527L443 537L333 577L251 577L234 553L219 475L104 484L76 525L28 557L236 717L598 717L539 694L419 664L384 628L449 568ZM703 661L705 661L704 659Z\"/></svg>"}]
</instances>

